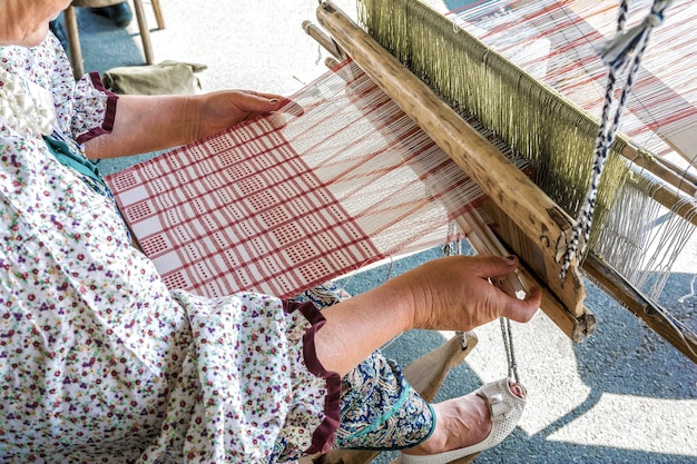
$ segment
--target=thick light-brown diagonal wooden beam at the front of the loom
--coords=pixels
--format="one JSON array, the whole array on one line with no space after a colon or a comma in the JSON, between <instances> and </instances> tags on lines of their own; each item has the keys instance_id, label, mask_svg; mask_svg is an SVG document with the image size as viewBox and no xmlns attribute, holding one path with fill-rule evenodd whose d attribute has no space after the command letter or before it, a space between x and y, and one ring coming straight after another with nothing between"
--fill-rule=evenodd
<instances>
[{"instance_id":1,"label":"thick light-brown diagonal wooden beam at the front of the loom","mask_svg":"<svg viewBox=\"0 0 697 464\"><path fill-rule=\"evenodd\" d=\"M560 282L560 257L572 220L452 108L332 2L317 8L320 23L338 46L472 178L530 239L527 263L572 317L587 314L578 263ZM519 256L526 250L513 249ZM547 312L548 308L543 309ZM552 309L556 312L556 308ZM559 317L552 317L559 319ZM566 317L566 316L565 316ZM569 334L569 330L565 330Z\"/></svg>"}]
</instances>

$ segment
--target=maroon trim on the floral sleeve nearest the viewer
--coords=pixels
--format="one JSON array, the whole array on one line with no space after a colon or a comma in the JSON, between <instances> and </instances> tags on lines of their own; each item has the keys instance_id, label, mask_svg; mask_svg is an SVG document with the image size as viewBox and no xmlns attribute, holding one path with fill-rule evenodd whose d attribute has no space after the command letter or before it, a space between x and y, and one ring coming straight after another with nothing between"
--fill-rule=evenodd
<instances>
[{"instance_id":1,"label":"maroon trim on the floral sleeve nearest the viewer","mask_svg":"<svg viewBox=\"0 0 697 464\"><path fill-rule=\"evenodd\" d=\"M315 352L315 334L326 323L326 319L312 302L296 303L284 300L283 308L286 313L293 313L295 309L300 310L312 324L303 336L303 357L311 373L326 379L327 393L324 398L324 421L313 433L312 446L305 450L305 453L326 453L332 448L334 434L340 426L338 399L341 396L341 376L335 372L326 371L320 363L320 359L317 359Z\"/></svg>"}]
</instances>

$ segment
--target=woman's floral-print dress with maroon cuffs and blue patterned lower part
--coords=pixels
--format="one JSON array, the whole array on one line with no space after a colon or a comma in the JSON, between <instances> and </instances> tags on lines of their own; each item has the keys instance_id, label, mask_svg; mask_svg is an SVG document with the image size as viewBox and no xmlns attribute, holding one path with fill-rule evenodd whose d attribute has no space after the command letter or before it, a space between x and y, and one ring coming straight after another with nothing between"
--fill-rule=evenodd
<instances>
[{"instance_id":1,"label":"woman's floral-print dress with maroon cuffs and blue patterned lower part","mask_svg":"<svg viewBox=\"0 0 697 464\"><path fill-rule=\"evenodd\" d=\"M53 108L51 140L73 157L111 130L117 97L97 75L75 82L55 37L0 47L0 67ZM0 462L292 462L429 436L431 407L380 352L343 379L317 362L335 289L166 288L108 191L53 145L0 113Z\"/></svg>"}]
</instances>

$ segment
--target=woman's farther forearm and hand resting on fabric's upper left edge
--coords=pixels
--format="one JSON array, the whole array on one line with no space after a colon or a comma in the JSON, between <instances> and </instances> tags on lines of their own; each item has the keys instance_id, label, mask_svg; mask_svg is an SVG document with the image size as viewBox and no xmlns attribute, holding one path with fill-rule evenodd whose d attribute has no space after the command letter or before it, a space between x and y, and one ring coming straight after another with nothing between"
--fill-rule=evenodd
<instances>
[{"instance_id":1,"label":"woman's farther forearm and hand resting on fabric's upper left edge","mask_svg":"<svg viewBox=\"0 0 697 464\"><path fill-rule=\"evenodd\" d=\"M114 130L85 142L89 159L163 150L277 110L284 97L243 90L196 96L119 96Z\"/></svg>"}]
</instances>

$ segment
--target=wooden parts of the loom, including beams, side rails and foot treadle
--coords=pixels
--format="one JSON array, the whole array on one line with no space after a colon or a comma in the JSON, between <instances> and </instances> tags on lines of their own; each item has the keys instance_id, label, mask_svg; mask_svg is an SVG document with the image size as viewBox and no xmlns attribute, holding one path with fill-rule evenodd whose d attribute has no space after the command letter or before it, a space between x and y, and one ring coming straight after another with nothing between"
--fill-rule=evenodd
<instances>
[{"instance_id":1,"label":"wooden parts of the loom, including beams, side rails and foot treadle","mask_svg":"<svg viewBox=\"0 0 697 464\"><path fill-rule=\"evenodd\" d=\"M359 3L361 1L359 0ZM370 2L369 2L370 3ZM410 1L394 2L394 9L410 8ZM421 7L419 7L421 8ZM432 19L438 21L439 13ZM433 91L415 77L402 62L387 52L363 29L354 24L331 2L324 2L317 9L320 23L328 31L326 36L311 22L304 23L305 31L328 50L336 60L346 57L353 59L375 82L394 100L448 155L481 186L491 201L487 206L489 213L499 225L497 234L477 215L467 214L458 219L458 224L467 234L473 247L480 254L504 254L510 247L528 264L523 270L523 279L528 283L541 284L544 288L542 309L572 339L578 340L592 332L595 319L583 306L585 290L580 280L580 268L601 285L620 304L640 317L647 325L677 347L683 354L697 363L697 336L667 314L656 303L642 295L622 275L609 266L600 256L590 251L582 264L572 265L571 284L560 285L558 278L559 253L566 246L572 219L554 204L546 194L513 168L498 150L470 127L453 109L443 102ZM400 18L401 19L401 18ZM400 19L396 19L399 21ZM423 18L420 17L420 20ZM393 19L394 20L394 19ZM431 21L431 19L429 20ZM445 20L449 21L449 20ZM426 21L428 22L428 21ZM448 24L445 22L445 24ZM445 28L445 27L444 27ZM394 39L394 38L392 38ZM441 47L448 47L442 37L430 37ZM444 42L444 43L443 43ZM392 43L393 45L393 43ZM410 59L414 59L410 57ZM418 60L414 59L414 60ZM330 66L332 61L330 60ZM508 66L508 65L507 65ZM423 73L423 70L421 70ZM429 80L426 73L425 80ZM449 99L452 101L452 99ZM665 207L676 210L693 226L697 226L697 206L695 198L695 180L687 175L691 185L686 185L685 177L676 174L671 167L641 157L627 140L621 140L618 151L629 160L649 169L662 182L677 188L657 184L658 194L655 199ZM694 160L691 160L694 161ZM684 191L680 191L684 190ZM686 194L686 195L683 195ZM683 196L683 197L681 197ZM681 206L676 208L676 197L681 197ZM687 199L686 199L686 198ZM691 197L691 198L690 198ZM680 209L681 208L681 209ZM524 238L521 238L524 237ZM501 241L508 245L502 245ZM475 338L472 339L475 343ZM452 340L450 342L452 343ZM445 354L441 351L435 356L442 361L461 361L467 352L450 346ZM411 369L420 372L414 381L423 381L425 366L432 363L419 359ZM454 363L455 361L453 361ZM408 378L413 371L406 371ZM426 377L432 383L424 389L426 398L432 397L438 388L438 375ZM426 381L428 382L428 381ZM423 385L414 384L418 388ZM314 463L364 463L370 462L376 453L371 452L332 452L324 456L314 456L307 462ZM477 456L459 461L471 462Z\"/></svg>"}]
</instances>

